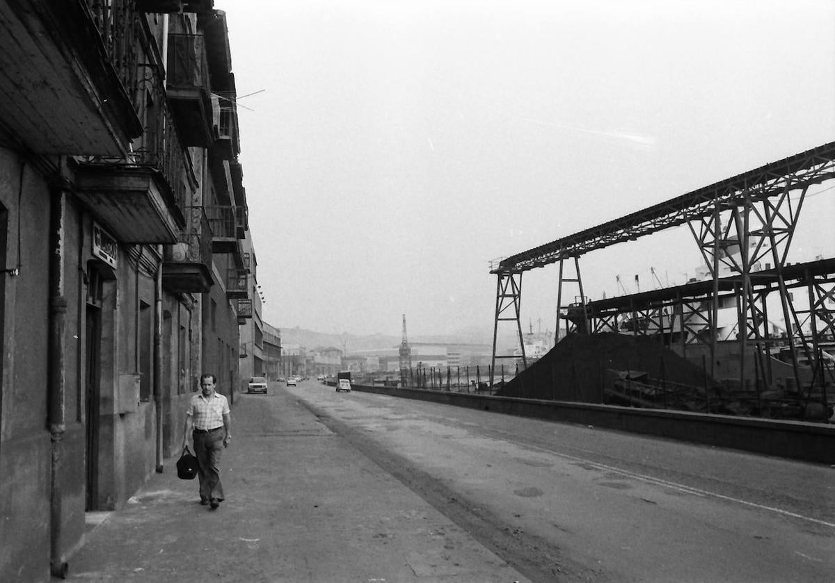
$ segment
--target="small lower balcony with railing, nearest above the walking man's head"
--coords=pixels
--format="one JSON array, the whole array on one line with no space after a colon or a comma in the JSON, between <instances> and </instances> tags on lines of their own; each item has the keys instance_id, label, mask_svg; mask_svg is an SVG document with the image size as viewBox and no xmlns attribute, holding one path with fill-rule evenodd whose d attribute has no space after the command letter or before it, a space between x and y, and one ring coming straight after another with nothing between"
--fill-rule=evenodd
<instances>
[{"instance_id":1,"label":"small lower balcony with railing, nearest above the walking man's head","mask_svg":"<svg viewBox=\"0 0 835 583\"><path fill-rule=\"evenodd\" d=\"M165 248L162 285L173 294L203 294L213 284L211 229L200 207L191 207L186 215L189 226L177 243Z\"/></svg>"}]
</instances>

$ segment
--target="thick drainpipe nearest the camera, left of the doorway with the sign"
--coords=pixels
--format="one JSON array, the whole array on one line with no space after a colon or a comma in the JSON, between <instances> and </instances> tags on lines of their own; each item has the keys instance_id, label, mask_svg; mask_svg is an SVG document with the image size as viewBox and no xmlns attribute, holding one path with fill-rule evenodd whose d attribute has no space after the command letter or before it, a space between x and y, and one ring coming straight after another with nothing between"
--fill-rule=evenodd
<instances>
[{"instance_id":1,"label":"thick drainpipe nearest the camera, left of the doorway with the sign","mask_svg":"<svg viewBox=\"0 0 835 583\"><path fill-rule=\"evenodd\" d=\"M52 442L49 483L50 568L53 575L66 578L68 565L61 551L62 488L60 475L63 458L62 440L66 430L66 402L64 399L66 379L64 377L63 337L66 329L67 297L64 294L63 259L66 253L64 223L67 219L67 196L60 184L53 184L51 191L47 364L48 425L49 438ZM20 209L18 209L19 212Z\"/></svg>"}]
</instances>

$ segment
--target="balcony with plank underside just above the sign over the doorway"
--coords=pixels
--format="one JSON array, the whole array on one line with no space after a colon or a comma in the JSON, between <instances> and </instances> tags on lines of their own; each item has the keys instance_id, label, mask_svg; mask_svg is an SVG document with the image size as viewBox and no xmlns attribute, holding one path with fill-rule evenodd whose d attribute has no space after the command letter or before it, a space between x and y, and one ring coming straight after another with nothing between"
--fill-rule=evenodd
<instances>
[{"instance_id":1,"label":"balcony with plank underside just above the sign over the doorway","mask_svg":"<svg viewBox=\"0 0 835 583\"><path fill-rule=\"evenodd\" d=\"M148 125L142 139L127 158L77 158L78 198L122 243L179 243L187 185L195 188L196 177L160 78L150 75L144 85L152 98L145 105Z\"/></svg>"}]
</instances>

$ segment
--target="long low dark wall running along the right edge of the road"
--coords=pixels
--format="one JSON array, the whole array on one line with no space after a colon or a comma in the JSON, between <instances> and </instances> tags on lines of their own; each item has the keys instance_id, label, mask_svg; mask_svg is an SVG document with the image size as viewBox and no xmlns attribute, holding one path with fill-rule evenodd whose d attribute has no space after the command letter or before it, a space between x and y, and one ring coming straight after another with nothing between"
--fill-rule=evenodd
<instances>
[{"instance_id":1,"label":"long low dark wall running along the right edge of the road","mask_svg":"<svg viewBox=\"0 0 835 583\"><path fill-rule=\"evenodd\" d=\"M595 425L671 440L777 455L792 460L835 464L835 425L568 401L515 399L439 390L392 389L357 384L352 385L352 388L378 395L433 401L520 417Z\"/></svg>"}]
</instances>

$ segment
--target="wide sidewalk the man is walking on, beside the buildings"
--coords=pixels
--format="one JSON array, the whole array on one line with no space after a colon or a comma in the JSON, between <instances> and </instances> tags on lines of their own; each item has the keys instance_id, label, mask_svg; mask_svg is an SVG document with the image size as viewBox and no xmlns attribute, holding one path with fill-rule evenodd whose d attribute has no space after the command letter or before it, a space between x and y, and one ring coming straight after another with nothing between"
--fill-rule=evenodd
<instances>
[{"instance_id":1,"label":"wide sidewalk the man is walking on, beside the buildings","mask_svg":"<svg viewBox=\"0 0 835 583\"><path fill-rule=\"evenodd\" d=\"M526 581L276 383L232 421L218 510L166 460L124 510L89 515L68 580Z\"/></svg>"}]
</instances>

